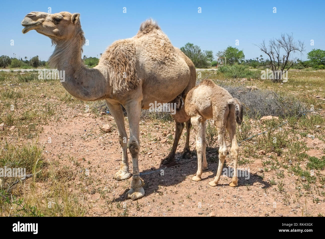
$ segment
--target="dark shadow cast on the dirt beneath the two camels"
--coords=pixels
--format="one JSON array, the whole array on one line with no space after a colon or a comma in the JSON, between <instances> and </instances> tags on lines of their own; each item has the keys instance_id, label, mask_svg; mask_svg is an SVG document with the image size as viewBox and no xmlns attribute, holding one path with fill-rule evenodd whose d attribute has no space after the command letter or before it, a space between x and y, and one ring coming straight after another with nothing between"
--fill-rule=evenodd
<instances>
[{"instance_id":1,"label":"dark shadow cast on the dirt beneath the two camels","mask_svg":"<svg viewBox=\"0 0 325 239\"><path fill-rule=\"evenodd\" d=\"M218 152L218 151L214 151ZM196 150L191 151L192 155L196 155ZM216 153L218 155L218 153ZM190 159L181 159L181 153L176 153L176 158L175 159L175 165L166 167L161 166L159 169L156 170L143 170L140 175L141 178L144 180L145 185L143 186L143 189L145 190L145 196L148 196L152 193L158 193L159 195L165 194L163 192L162 188L167 187L167 186L175 186L177 185L180 186L180 183L186 180L186 178L189 175L194 175L197 171L197 158L191 157ZM229 161L228 161L229 162ZM229 162L230 163L230 162ZM202 174L202 182L206 183L208 185L208 182L213 180L214 177L216 176L216 171L218 168L218 161L217 162L211 162L208 160L208 169L203 170ZM205 172L213 172L212 175L205 176ZM238 166L238 187L248 187L249 185L253 185L254 183L260 183L262 186L262 189L266 189L271 187L271 184L267 181L263 180L263 177L256 173L251 173L247 170L247 168L240 168ZM227 165L223 166L223 171L221 174L222 177L228 177L229 181L226 184L221 184L220 181L217 185L218 186L229 186L229 183L231 182L231 178L233 176L233 166ZM194 182L194 181L193 181ZM211 189L213 187L209 186ZM125 200L124 196L125 194L129 191L129 188L125 189L125 191L120 194L117 198L115 198L115 201L123 201ZM177 193L177 188L175 190L171 190L172 192L170 193ZM175 192L173 192L175 191Z\"/></svg>"}]
</instances>

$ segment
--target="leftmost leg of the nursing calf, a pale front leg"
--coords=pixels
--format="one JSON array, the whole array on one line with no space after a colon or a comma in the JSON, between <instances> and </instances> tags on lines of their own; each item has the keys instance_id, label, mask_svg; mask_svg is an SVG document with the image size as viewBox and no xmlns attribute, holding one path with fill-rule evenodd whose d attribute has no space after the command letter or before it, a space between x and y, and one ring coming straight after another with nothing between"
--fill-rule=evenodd
<instances>
[{"instance_id":1,"label":"leftmost leg of the nursing calf, a pale front leg","mask_svg":"<svg viewBox=\"0 0 325 239\"><path fill-rule=\"evenodd\" d=\"M194 131L195 131L195 142L196 142L196 153L198 155L198 170L196 172L196 176L192 178L193 181L201 181L202 175L202 117L193 117L191 119Z\"/></svg>"}]
</instances>

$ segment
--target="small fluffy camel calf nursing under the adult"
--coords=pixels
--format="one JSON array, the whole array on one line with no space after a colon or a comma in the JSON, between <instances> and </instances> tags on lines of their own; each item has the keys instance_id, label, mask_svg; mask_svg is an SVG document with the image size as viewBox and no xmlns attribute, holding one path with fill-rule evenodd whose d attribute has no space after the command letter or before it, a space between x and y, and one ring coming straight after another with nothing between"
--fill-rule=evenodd
<instances>
[{"instance_id":1,"label":"small fluffy camel calf nursing under the adult","mask_svg":"<svg viewBox=\"0 0 325 239\"><path fill-rule=\"evenodd\" d=\"M191 117L191 124L195 130L196 151L198 154L198 171L192 178L200 181L202 169L208 168L206 162L206 120L213 118L213 124L218 130L219 165L217 175L211 186L216 186L221 176L222 167L227 155L226 129L231 141L231 157L234 161L234 175L231 187L237 186L237 161L239 147L236 139L236 122L240 125L243 115L243 106L237 98L232 98L229 92L205 79L198 86L192 88L185 99L185 112ZM202 166L203 155L203 166Z\"/></svg>"}]
</instances>

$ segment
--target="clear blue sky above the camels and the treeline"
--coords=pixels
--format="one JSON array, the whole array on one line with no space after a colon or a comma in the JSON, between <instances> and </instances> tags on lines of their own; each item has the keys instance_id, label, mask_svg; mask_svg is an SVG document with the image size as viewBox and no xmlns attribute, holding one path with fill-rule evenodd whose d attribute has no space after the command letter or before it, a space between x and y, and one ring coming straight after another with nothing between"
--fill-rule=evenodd
<instances>
[{"instance_id":1,"label":"clear blue sky above the camels and the treeline","mask_svg":"<svg viewBox=\"0 0 325 239\"><path fill-rule=\"evenodd\" d=\"M27 4L28 2L28 4ZM158 21L172 44L194 43L202 50L213 50L214 56L227 46L244 51L245 59L263 54L253 44L263 39L293 33L294 39L305 42L307 52L325 50L325 1L1 1L0 55L21 58L38 55L47 60L53 52L48 37L34 30L22 34L21 21L31 11L80 13L82 28L89 46L83 55L97 57L113 41L134 36L142 21ZM126 7L126 13L123 13ZM201 7L201 13L198 13ZM273 13L276 7L277 13ZM314 46L310 40L314 40ZM10 41L14 40L14 46ZM239 46L236 46L239 40ZM300 53L296 56L301 57Z\"/></svg>"}]
</instances>

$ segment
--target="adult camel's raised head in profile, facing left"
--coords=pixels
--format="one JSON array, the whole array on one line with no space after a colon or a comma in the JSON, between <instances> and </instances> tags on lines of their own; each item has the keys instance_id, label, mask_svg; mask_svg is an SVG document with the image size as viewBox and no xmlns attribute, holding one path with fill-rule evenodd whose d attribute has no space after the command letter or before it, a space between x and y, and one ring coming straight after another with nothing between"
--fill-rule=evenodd
<instances>
[{"instance_id":1,"label":"adult camel's raised head in profile, facing left","mask_svg":"<svg viewBox=\"0 0 325 239\"><path fill-rule=\"evenodd\" d=\"M58 43L69 40L81 32L79 13L60 12L31 12L22 20L24 26L22 33L35 30Z\"/></svg>"}]
</instances>

